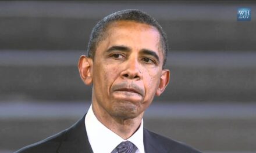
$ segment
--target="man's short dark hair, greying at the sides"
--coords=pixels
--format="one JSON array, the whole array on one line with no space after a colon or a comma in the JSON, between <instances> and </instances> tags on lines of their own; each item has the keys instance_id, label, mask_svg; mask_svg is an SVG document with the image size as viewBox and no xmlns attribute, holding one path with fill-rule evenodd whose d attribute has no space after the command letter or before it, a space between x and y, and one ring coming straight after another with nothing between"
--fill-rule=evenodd
<instances>
[{"instance_id":1,"label":"man's short dark hair, greying at the sides","mask_svg":"<svg viewBox=\"0 0 256 153\"><path fill-rule=\"evenodd\" d=\"M149 14L136 9L127 9L127 10L120 10L118 12L109 14L108 16L104 17L101 21L99 21L93 28L91 32L90 40L88 42L87 53L88 57L94 59L95 50L97 49L97 45L104 39L104 34L108 28L110 23L115 21L135 21L137 23L143 23L151 25L157 28L159 34L161 35L160 42L161 42L161 49L163 54L163 65L165 65L167 52L168 52L168 42L167 36L163 31L160 24L158 24L157 20L154 17L151 17Z\"/></svg>"}]
</instances>

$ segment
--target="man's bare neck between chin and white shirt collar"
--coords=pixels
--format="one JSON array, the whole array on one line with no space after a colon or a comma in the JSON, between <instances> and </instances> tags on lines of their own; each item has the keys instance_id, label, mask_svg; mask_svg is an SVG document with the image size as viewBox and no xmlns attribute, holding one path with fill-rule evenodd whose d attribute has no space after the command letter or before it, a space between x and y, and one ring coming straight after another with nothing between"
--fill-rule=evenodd
<instances>
[{"instance_id":1,"label":"man's bare neck between chin and white shirt collar","mask_svg":"<svg viewBox=\"0 0 256 153\"><path fill-rule=\"evenodd\" d=\"M93 104L93 112L98 121L106 126L106 128L112 130L112 132L118 134L122 139L129 139L140 126L143 113L136 118L122 118L111 115L104 110L99 111L98 107L97 104Z\"/></svg>"}]
</instances>

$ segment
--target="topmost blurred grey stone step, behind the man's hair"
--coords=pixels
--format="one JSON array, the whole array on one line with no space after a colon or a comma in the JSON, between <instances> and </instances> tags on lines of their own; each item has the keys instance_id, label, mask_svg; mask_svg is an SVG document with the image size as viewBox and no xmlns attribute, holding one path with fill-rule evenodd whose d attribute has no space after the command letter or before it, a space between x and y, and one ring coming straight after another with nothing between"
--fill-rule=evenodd
<instances>
[{"instance_id":1,"label":"topmost blurred grey stone step, behind the man's hair","mask_svg":"<svg viewBox=\"0 0 256 153\"><path fill-rule=\"evenodd\" d=\"M137 8L155 16L173 50L256 50L256 21L238 22L237 8L254 2L1 2L1 49L82 50L106 14ZM116 8L118 9L116 9ZM104 9L102 9L104 8Z\"/></svg>"}]
</instances>

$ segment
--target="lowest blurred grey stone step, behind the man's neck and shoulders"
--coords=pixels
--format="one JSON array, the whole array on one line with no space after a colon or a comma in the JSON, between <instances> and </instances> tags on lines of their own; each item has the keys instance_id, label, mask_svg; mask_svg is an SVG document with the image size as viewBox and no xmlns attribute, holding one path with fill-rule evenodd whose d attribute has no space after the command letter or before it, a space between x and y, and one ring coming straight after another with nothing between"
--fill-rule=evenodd
<instances>
[{"instance_id":1,"label":"lowest blurred grey stone step, behind the man's neck and shoulders","mask_svg":"<svg viewBox=\"0 0 256 153\"><path fill-rule=\"evenodd\" d=\"M17 150L73 125L89 103L6 103L0 106L0 150ZM203 152L255 152L256 105L154 104L144 126Z\"/></svg>"}]
</instances>

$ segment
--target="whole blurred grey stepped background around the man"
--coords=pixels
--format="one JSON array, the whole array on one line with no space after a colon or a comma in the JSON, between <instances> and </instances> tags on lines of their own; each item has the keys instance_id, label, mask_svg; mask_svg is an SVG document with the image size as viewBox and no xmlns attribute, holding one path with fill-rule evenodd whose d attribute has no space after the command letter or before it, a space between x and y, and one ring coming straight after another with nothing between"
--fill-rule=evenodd
<instances>
[{"instance_id":1,"label":"whole blurred grey stepped background around the man","mask_svg":"<svg viewBox=\"0 0 256 153\"><path fill-rule=\"evenodd\" d=\"M251 21L237 21L237 8ZM171 82L145 112L148 129L208 153L256 152L253 1L1 1L0 152L73 125L91 87L77 61L102 17L140 9L168 35Z\"/></svg>"}]
</instances>

